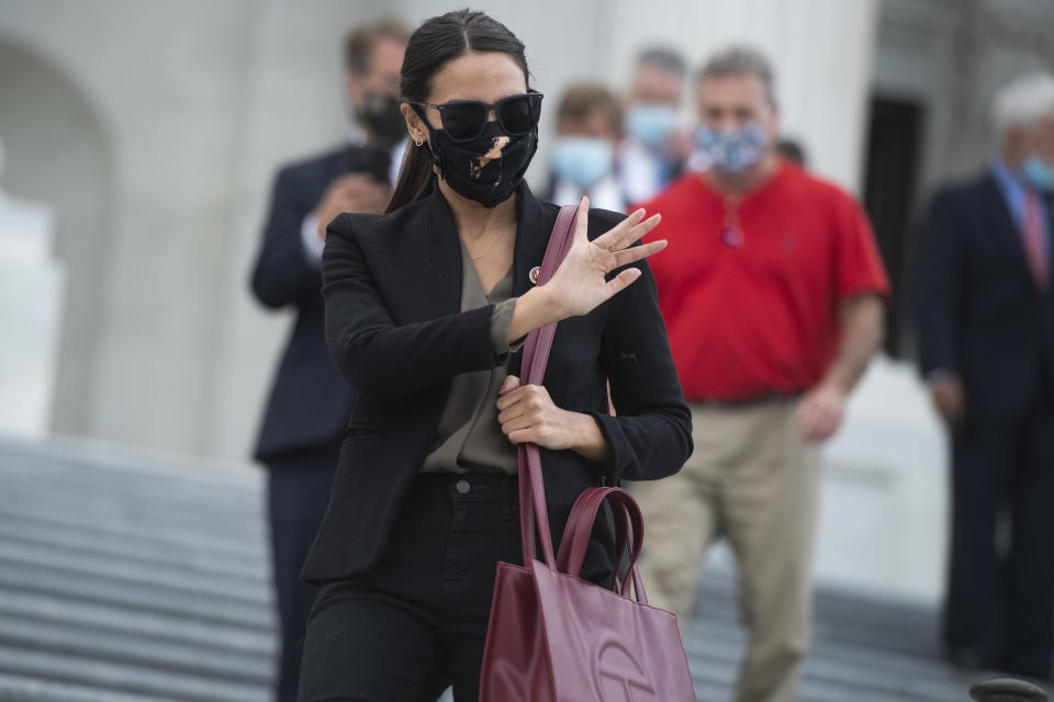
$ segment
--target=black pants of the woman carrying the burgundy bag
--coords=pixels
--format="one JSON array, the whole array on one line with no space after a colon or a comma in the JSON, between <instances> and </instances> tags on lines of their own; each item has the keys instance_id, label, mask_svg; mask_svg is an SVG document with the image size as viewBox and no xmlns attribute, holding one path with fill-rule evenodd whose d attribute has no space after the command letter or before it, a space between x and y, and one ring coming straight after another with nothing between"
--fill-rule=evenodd
<instances>
[{"instance_id":1,"label":"black pants of the woman carrying the burgundy bag","mask_svg":"<svg viewBox=\"0 0 1054 702\"><path fill-rule=\"evenodd\" d=\"M301 702L479 698L498 561L523 563L516 478L421 475L378 564L324 585Z\"/></svg>"}]
</instances>

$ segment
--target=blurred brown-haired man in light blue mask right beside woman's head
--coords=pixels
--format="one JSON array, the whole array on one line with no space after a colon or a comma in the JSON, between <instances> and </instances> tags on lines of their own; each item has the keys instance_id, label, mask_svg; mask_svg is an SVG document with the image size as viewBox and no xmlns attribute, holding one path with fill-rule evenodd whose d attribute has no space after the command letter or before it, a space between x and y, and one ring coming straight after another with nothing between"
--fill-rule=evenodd
<instances>
[{"instance_id":1,"label":"blurred brown-haired man in light blue mask right beside woman's head","mask_svg":"<svg viewBox=\"0 0 1054 702\"><path fill-rule=\"evenodd\" d=\"M618 98L602 83L573 83L557 107L551 177L542 200L573 205L588 195L590 206L625 212L626 195L615 154L623 134Z\"/></svg>"}]
</instances>

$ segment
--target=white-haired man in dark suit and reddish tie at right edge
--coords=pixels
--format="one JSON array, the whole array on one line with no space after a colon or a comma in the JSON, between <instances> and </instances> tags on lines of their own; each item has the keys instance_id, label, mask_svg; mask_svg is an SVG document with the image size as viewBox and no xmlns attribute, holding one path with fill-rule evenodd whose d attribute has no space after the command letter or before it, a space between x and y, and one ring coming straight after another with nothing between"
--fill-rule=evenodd
<instances>
[{"instance_id":1,"label":"white-haired man in dark suit and reddish tie at right edge","mask_svg":"<svg viewBox=\"0 0 1054 702\"><path fill-rule=\"evenodd\" d=\"M921 371L952 434L944 644L1050 678L1054 655L1054 77L996 97L999 149L921 233Z\"/></svg>"}]
</instances>

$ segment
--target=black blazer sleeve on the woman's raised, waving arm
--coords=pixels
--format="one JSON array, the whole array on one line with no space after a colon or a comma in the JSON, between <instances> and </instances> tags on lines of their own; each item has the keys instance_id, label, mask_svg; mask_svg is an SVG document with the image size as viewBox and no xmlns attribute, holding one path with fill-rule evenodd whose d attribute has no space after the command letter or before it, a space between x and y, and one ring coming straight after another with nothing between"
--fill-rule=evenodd
<instances>
[{"instance_id":1,"label":"black blazer sleeve on the woman's raised, waving arm","mask_svg":"<svg viewBox=\"0 0 1054 702\"><path fill-rule=\"evenodd\" d=\"M396 324L347 214L327 229L322 281L329 354L363 396L397 399L504 362L491 344L494 305Z\"/></svg>"}]
</instances>

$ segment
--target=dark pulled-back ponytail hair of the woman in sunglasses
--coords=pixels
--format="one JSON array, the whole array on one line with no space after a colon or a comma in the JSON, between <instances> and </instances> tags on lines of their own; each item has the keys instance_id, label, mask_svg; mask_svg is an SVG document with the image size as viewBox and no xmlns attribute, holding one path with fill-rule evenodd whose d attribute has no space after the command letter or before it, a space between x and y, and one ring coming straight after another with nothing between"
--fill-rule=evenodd
<instances>
[{"instance_id":1,"label":"dark pulled-back ponytail hair of the woman in sunglasses","mask_svg":"<svg viewBox=\"0 0 1054 702\"><path fill-rule=\"evenodd\" d=\"M458 10L426 20L410 36L403 69L400 77L400 93L408 102L427 102L431 92L431 78L448 61L468 52L502 52L524 69L524 80L529 84L530 71L524 55L524 43L516 38L507 26L482 12ZM416 202L431 192L431 158L427 146L411 144L399 169L399 182L385 212Z\"/></svg>"}]
</instances>

